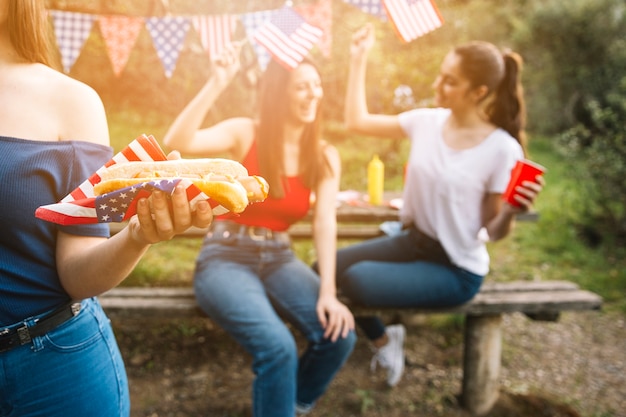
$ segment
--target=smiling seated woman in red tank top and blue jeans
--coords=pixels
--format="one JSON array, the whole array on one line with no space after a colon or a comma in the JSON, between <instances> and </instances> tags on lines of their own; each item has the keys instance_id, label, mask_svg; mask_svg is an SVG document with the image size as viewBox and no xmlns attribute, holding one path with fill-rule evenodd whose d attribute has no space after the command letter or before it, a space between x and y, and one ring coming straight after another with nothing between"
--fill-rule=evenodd
<instances>
[{"instance_id":1,"label":"smiling seated woman in red tank top and blue jeans","mask_svg":"<svg viewBox=\"0 0 626 417\"><path fill-rule=\"evenodd\" d=\"M194 156L228 154L268 180L270 195L239 216L217 219L195 272L203 310L253 357L253 415L293 417L324 393L351 353L354 319L335 289L337 150L320 140L322 82L308 60L288 70L271 61L260 81L258 117L200 128L240 69L231 45L175 120L165 144ZM309 211L319 276L296 258L288 227ZM308 346L300 358L286 320Z\"/></svg>"}]
</instances>

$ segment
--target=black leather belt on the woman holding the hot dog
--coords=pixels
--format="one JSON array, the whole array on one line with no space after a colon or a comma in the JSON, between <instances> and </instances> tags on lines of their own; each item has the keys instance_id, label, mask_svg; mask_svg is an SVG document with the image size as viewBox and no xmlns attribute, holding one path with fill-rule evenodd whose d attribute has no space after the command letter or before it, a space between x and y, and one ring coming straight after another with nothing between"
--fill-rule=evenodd
<instances>
[{"instance_id":1,"label":"black leather belt on the woman holding the hot dog","mask_svg":"<svg viewBox=\"0 0 626 417\"><path fill-rule=\"evenodd\" d=\"M73 302L59 307L49 314L37 319L35 324L0 329L0 353L15 347L29 344L33 338L43 336L56 329L80 312L80 303Z\"/></svg>"}]
</instances>

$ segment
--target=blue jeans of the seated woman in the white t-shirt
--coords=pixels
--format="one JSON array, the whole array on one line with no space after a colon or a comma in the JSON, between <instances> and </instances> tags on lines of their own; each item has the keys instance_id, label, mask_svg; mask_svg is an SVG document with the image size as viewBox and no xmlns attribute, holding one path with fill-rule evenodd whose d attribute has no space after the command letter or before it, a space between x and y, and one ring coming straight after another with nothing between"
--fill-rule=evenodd
<instances>
[{"instance_id":1,"label":"blue jeans of the seated woman in the white t-shirt","mask_svg":"<svg viewBox=\"0 0 626 417\"><path fill-rule=\"evenodd\" d=\"M370 307L448 307L469 301L483 277L450 263L438 242L414 227L337 252L337 285L351 301ZM356 317L370 340L385 326Z\"/></svg>"}]
</instances>

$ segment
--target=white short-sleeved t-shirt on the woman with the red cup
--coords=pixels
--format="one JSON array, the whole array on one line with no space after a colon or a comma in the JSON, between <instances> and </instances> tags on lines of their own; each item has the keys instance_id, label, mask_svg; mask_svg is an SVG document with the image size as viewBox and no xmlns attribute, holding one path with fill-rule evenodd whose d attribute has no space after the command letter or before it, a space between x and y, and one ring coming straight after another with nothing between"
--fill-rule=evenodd
<instances>
[{"instance_id":1,"label":"white short-sleeved t-shirt on the woman with the red cup","mask_svg":"<svg viewBox=\"0 0 626 417\"><path fill-rule=\"evenodd\" d=\"M523 150L502 129L473 148L451 149L442 136L449 115L448 109L399 115L411 141L400 220L437 239L453 264L486 275L489 254L480 237L482 202L488 193L504 192Z\"/></svg>"}]
</instances>

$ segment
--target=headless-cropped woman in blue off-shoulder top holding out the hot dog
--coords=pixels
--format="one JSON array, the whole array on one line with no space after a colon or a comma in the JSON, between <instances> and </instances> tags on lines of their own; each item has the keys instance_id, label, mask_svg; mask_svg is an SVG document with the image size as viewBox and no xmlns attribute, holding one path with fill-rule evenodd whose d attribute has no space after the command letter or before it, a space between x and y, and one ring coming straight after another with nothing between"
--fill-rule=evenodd
<instances>
[{"instance_id":1,"label":"headless-cropped woman in blue off-shoulder top holding out the hot dog","mask_svg":"<svg viewBox=\"0 0 626 417\"><path fill-rule=\"evenodd\" d=\"M153 195L108 238L105 224L58 226L58 202L112 156L94 90L48 66L43 0L0 0L0 416L126 417L124 364L95 296L151 243L212 219L182 192ZM155 220L152 220L154 215Z\"/></svg>"}]
</instances>

